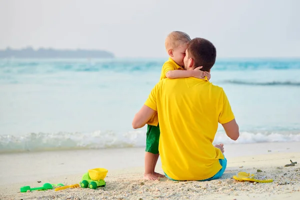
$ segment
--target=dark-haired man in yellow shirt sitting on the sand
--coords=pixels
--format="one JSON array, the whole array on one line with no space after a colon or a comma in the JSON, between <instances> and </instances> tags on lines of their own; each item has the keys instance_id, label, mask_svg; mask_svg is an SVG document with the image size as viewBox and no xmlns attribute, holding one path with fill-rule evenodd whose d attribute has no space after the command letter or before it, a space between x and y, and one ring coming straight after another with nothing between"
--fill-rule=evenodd
<instances>
[{"instance_id":1,"label":"dark-haired man in yellow shirt sitting on the sand","mask_svg":"<svg viewBox=\"0 0 300 200\"><path fill-rule=\"evenodd\" d=\"M216 57L214 45L194 38L185 51L184 68L210 71ZM172 180L211 180L226 168L223 146L212 145L218 122L228 137L239 136L229 101L221 87L194 77L162 79L135 114L133 128L140 128L157 111L162 169Z\"/></svg>"}]
</instances>

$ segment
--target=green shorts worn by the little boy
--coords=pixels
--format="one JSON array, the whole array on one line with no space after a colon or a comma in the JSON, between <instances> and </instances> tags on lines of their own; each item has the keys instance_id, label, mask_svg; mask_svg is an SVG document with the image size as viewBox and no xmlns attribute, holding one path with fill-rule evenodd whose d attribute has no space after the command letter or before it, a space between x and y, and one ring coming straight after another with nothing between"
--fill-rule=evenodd
<instances>
[{"instance_id":1,"label":"green shorts worn by the little boy","mask_svg":"<svg viewBox=\"0 0 300 200\"><path fill-rule=\"evenodd\" d=\"M147 125L147 134L146 134L146 151L157 154L158 153L158 144L159 144L159 124Z\"/></svg>"}]
</instances>

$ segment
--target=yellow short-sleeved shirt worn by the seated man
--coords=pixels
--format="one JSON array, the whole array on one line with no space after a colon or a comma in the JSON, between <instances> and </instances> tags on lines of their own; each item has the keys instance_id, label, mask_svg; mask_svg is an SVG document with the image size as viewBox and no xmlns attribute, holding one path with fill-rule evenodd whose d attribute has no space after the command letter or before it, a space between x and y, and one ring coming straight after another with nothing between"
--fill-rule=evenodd
<instances>
[{"instance_id":1,"label":"yellow short-sleeved shirt worn by the seated man","mask_svg":"<svg viewBox=\"0 0 300 200\"><path fill-rule=\"evenodd\" d=\"M224 156L212 145L218 122L234 119L223 89L194 77L160 80L145 105L159 118L159 154L163 171L175 180L215 175Z\"/></svg>"}]
</instances>

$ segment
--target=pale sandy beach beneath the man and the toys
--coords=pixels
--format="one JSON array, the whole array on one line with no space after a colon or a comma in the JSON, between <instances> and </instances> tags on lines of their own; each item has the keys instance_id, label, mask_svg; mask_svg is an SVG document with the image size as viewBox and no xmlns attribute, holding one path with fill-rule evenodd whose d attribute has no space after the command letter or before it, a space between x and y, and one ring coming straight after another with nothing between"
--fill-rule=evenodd
<instances>
[{"instance_id":1,"label":"pale sandy beach beneath the man and the toys","mask_svg":"<svg viewBox=\"0 0 300 200\"><path fill-rule=\"evenodd\" d=\"M300 142L226 145L225 173L220 179L206 182L144 180L143 148L0 154L0 199L299 199L299 145ZM284 167L290 159L298 163ZM160 166L158 162L158 172L162 172ZM105 188L19 191L21 186L37 187L45 182L79 183L82 174L94 167L108 169ZM273 182L236 181L232 176L239 170L266 175Z\"/></svg>"}]
</instances>

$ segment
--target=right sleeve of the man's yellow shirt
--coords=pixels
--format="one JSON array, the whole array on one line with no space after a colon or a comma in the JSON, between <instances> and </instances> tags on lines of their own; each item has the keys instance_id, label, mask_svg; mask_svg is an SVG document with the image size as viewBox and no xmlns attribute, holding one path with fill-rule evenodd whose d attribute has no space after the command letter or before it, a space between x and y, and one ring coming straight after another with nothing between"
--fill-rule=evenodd
<instances>
[{"instance_id":1,"label":"right sleeve of the man's yellow shirt","mask_svg":"<svg viewBox=\"0 0 300 200\"><path fill-rule=\"evenodd\" d=\"M231 110L230 103L223 89L219 99L219 108L220 108L219 109L220 114L218 117L219 123L227 123L234 119L234 114Z\"/></svg>"}]
</instances>

